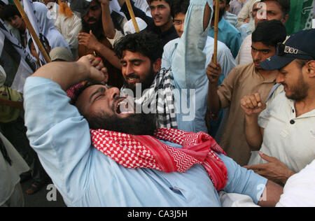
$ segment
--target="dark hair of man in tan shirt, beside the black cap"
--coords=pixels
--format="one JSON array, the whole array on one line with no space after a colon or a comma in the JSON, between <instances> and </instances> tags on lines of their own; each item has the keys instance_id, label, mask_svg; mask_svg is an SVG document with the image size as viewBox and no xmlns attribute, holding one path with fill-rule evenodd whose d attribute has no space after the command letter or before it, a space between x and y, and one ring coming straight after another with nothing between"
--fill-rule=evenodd
<instances>
[{"instance_id":1,"label":"dark hair of man in tan shirt, beside the black cap","mask_svg":"<svg viewBox=\"0 0 315 221\"><path fill-rule=\"evenodd\" d=\"M279 20L260 21L253 31L251 40L276 47L277 43L286 40L286 27Z\"/></svg>"}]
</instances>

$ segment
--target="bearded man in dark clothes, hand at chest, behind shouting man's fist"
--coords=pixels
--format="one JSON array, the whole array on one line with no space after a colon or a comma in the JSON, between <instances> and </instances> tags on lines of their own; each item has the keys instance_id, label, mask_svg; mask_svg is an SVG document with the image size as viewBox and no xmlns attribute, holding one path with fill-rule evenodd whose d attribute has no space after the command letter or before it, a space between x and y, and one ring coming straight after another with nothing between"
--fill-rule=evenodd
<instances>
[{"instance_id":1,"label":"bearded man in dark clothes, hand at chest, behind shouting man's fist","mask_svg":"<svg viewBox=\"0 0 315 221\"><path fill-rule=\"evenodd\" d=\"M87 8L88 6L88 8ZM78 34L78 57L97 55L102 58L108 72L109 85L123 86L121 65L111 50L111 43L104 34L102 14L105 6L98 0L71 1L73 11L80 11L83 29Z\"/></svg>"}]
</instances>

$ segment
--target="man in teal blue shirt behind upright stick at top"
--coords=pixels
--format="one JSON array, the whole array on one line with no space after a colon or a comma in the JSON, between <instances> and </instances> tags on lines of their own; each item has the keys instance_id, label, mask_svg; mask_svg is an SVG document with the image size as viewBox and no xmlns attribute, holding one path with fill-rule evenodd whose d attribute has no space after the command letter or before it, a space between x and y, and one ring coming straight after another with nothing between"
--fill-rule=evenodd
<instances>
[{"instance_id":1,"label":"man in teal blue shirt behind upright stick at top","mask_svg":"<svg viewBox=\"0 0 315 221\"><path fill-rule=\"evenodd\" d=\"M214 8L215 8L214 1ZM225 43L230 48L233 57L237 57L239 48L241 47L241 33L230 22L224 19L225 8L227 6L226 0L220 0L219 22L218 22L218 41ZM214 17L211 21L211 29L209 36L214 38Z\"/></svg>"}]
</instances>

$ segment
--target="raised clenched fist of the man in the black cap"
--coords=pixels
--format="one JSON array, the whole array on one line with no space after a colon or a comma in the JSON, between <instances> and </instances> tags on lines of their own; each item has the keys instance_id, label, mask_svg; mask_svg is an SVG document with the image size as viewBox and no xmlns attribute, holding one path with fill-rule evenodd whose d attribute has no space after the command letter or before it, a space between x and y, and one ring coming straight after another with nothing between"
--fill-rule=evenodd
<instances>
[{"instance_id":1,"label":"raised clenched fist of the man in the black cap","mask_svg":"<svg viewBox=\"0 0 315 221\"><path fill-rule=\"evenodd\" d=\"M241 108L249 117L265 110L266 104L261 101L260 94L248 94L241 99Z\"/></svg>"}]
</instances>

